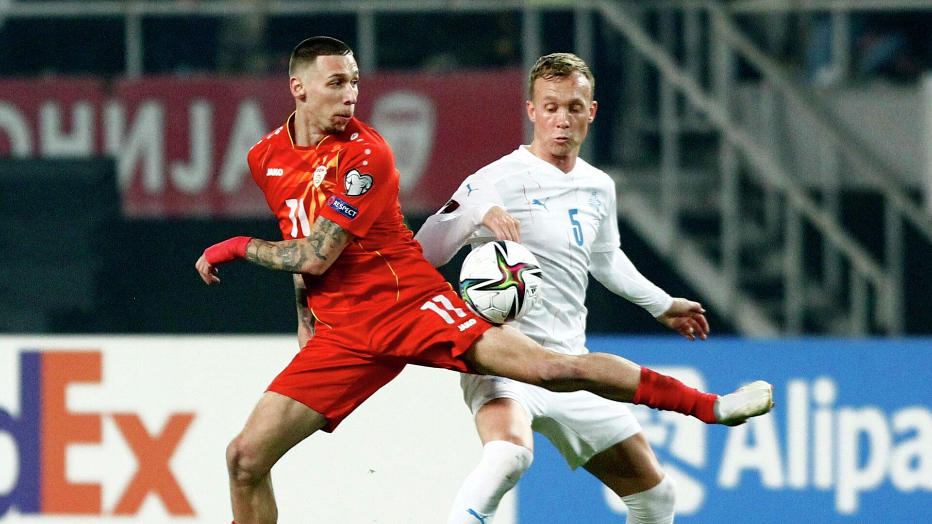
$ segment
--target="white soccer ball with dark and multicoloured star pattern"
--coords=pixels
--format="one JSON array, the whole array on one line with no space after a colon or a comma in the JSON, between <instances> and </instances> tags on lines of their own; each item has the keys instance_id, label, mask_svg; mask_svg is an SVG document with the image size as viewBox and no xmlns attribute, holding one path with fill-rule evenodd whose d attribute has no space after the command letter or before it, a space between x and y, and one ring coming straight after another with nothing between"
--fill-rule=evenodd
<instances>
[{"instance_id":1,"label":"white soccer ball with dark and multicoloured star pattern","mask_svg":"<svg viewBox=\"0 0 932 524\"><path fill-rule=\"evenodd\" d=\"M473 249L459 270L459 296L492 324L533 310L540 287L537 257L513 241L491 241Z\"/></svg>"}]
</instances>

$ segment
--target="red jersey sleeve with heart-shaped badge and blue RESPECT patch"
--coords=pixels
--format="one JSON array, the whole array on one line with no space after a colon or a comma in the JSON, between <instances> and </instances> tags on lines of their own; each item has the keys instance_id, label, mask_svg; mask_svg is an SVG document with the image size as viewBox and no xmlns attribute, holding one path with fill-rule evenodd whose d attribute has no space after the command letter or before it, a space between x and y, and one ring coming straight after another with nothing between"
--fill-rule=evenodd
<instances>
[{"instance_id":1,"label":"red jersey sleeve with heart-shaped badge and blue RESPECT patch","mask_svg":"<svg viewBox=\"0 0 932 524\"><path fill-rule=\"evenodd\" d=\"M379 214L398 199L398 172L388 145L353 145L337 166L336 190L321 216L364 237Z\"/></svg>"}]
</instances>

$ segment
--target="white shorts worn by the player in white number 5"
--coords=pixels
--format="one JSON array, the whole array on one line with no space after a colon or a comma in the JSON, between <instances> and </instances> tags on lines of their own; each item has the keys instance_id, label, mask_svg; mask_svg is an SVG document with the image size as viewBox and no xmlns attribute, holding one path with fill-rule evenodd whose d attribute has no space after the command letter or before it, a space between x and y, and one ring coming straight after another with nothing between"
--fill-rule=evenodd
<instances>
[{"instance_id":1,"label":"white shorts worn by the player in white number 5","mask_svg":"<svg viewBox=\"0 0 932 524\"><path fill-rule=\"evenodd\" d=\"M595 393L554 393L502 377L462 374L463 399L473 410L510 398L528 411L531 428L546 436L576 469L596 454L641 431L631 410Z\"/></svg>"}]
</instances>

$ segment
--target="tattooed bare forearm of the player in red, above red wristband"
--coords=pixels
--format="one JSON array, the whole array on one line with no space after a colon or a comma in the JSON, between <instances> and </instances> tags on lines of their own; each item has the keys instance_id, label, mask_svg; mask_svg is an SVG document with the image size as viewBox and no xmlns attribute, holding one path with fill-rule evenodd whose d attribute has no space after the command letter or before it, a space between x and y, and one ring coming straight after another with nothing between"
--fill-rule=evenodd
<instances>
[{"instance_id":1,"label":"tattooed bare forearm of the player in red, above red wristband","mask_svg":"<svg viewBox=\"0 0 932 524\"><path fill-rule=\"evenodd\" d=\"M277 242L253 239L246 247L246 259L268 269L313 273L315 268L329 268L349 240L349 231L319 216L308 238Z\"/></svg>"}]
</instances>

